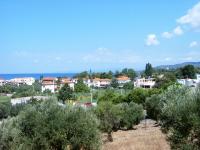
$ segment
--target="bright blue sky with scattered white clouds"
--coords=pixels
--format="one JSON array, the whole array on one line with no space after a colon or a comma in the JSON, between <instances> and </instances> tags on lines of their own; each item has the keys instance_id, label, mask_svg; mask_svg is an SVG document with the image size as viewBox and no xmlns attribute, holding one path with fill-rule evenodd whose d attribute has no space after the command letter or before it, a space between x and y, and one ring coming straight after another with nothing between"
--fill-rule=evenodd
<instances>
[{"instance_id":1,"label":"bright blue sky with scattered white clouds","mask_svg":"<svg viewBox=\"0 0 200 150\"><path fill-rule=\"evenodd\" d=\"M1 0L0 73L200 61L199 0Z\"/></svg>"}]
</instances>

